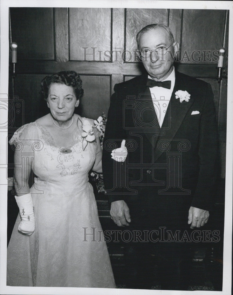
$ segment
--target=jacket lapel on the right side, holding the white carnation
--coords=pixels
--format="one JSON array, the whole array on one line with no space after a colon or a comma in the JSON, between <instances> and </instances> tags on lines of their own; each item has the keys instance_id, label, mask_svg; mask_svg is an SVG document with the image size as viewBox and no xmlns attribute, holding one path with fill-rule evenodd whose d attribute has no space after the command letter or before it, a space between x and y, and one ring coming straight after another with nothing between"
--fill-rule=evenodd
<instances>
[{"instance_id":1,"label":"jacket lapel on the right side, holding the white carnation","mask_svg":"<svg viewBox=\"0 0 233 295\"><path fill-rule=\"evenodd\" d=\"M184 117L186 116L187 112L191 108L192 104L194 103L194 97L190 96L189 101L183 101L180 102L179 98L176 99L175 92L178 90L182 91L188 91L189 92L189 87L188 85L185 85L185 81L181 78L181 75L179 72L176 71L176 80L175 80L175 85L173 92L171 94L171 99L168 104L168 109L165 114L163 124L161 127L161 131L165 131L164 135L160 135L158 137L158 142L159 140L166 140L166 142L171 142L171 140L174 138L176 135L176 132L179 130ZM189 92L190 93L190 92ZM155 150L154 150L154 161L156 161L161 154L164 151L158 148L158 145L156 145Z\"/></svg>"}]
</instances>

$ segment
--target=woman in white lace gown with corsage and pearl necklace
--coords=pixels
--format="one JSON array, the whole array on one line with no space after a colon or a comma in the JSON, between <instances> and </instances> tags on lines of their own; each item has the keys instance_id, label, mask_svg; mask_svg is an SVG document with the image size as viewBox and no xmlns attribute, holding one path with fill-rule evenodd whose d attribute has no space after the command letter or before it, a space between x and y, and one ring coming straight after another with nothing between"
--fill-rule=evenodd
<instances>
[{"instance_id":1,"label":"woman in white lace gown with corsage and pearl necklace","mask_svg":"<svg viewBox=\"0 0 233 295\"><path fill-rule=\"evenodd\" d=\"M82 81L74 71L60 72L42 80L42 93L51 113L10 140L19 215L7 249L7 285L115 288L88 182L91 169L102 171L100 140L93 121L74 114Z\"/></svg>"}]
</instances>

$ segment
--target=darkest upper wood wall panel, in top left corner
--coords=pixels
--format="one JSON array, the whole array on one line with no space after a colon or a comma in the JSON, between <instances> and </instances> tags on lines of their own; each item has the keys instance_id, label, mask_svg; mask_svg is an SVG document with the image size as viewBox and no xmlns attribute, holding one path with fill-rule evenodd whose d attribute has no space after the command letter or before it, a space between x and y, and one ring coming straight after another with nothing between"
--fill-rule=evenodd
<instances>
[{"instance_id":1,"label":"darkest upper wood wall panel, in top left corner","mask_svg":"<svg viewBox=\"0 0 233 295\"><path fill-rule=\"evenodd\" d=\"M18 60L54 60L53 8L11 8L10 15Z\"/></svg>"}]
</instances>

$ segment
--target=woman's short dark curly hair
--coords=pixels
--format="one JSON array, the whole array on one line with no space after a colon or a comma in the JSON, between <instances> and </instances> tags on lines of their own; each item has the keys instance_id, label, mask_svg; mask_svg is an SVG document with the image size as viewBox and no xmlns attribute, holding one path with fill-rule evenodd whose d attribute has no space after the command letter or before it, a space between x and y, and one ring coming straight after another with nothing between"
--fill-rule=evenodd
<instances>
[{"instance_id":1,"label":"woman's short dark curly hair","mask_svg":"<svg viewBox=\"0 0 233 295\"><path fill-rule=\"evenodd\" d=\"M54 83L71 86L75 91L77 99L80 99L83 96L84 91L82 89L82 80L75 71L62 71L52 76L44 77L44 79L41 81L40 93L45 100L48 98L50 85Z\"/></svg>"}]
</instances>

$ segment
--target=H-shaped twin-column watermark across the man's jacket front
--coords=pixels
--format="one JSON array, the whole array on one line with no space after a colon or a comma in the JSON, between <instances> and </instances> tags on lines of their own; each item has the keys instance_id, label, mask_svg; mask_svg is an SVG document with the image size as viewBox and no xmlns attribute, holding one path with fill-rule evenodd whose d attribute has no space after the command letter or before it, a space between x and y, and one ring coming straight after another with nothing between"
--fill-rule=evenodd
<instances>
[{"instance_id":1,"label":"H-shaped twin-column watermark across the man's jacket front","mask_svg":"<svg viewBox=\"0 0 233 295\"><path fill-rule=\"evenodd\" d=\"M133 135L138 135L137 132L133 132ZM140 135L141 136L141 135ZM131 140L132 141L132 140ZM107 151L117 148L120 145L121 140L108 140L105 142L104 148ZM126 141L127 142L127 141ZM171 148L172 145L172 148ZM137 145L136 141L134 148L128 152L139 149L138 154L141 154L141 162L132 163L129 157L126 157L125 162L113 161L113 183L112 188L106 191L106 194L125 195L125 194L136 194L139 186L165 186L163 189L158 189L158 194L165 195L190 195L190 189L184 189L182 187L182 153L187 152L191 147L188 140L159 140L158 150L161 153L166 153L166 162L164 163L143 163L143 144ZM156 155L154 154L154 159ZM140 160L140 159L138 159ZM166 170L165 179L158 180L158 170ZM138 171L138 180L130 180L130 171ZM157 174L156 174L157 173ZM157 175L157 176L156 176Z\"/></svg>"}]
</instances>

